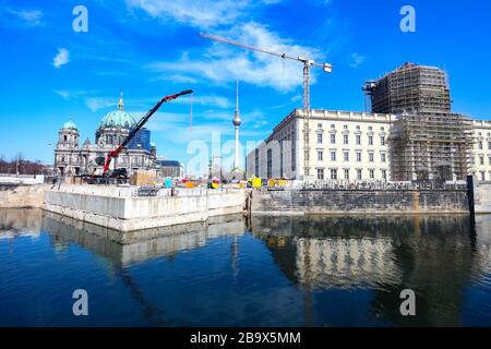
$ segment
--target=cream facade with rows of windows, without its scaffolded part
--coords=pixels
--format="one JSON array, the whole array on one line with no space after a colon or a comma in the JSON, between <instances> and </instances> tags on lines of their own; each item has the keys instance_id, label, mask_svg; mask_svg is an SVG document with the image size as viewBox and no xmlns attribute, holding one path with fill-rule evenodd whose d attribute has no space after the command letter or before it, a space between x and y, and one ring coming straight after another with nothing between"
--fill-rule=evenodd
<instances>
[{"instance_id":1,"label":"cream facade with rows of windows, without its scaffolded part","mask_svg":"<svg viewBox=\"0 0 491 349\"><path fill-rule=\"evenodd\" d=\"M395 115L314 109L309 120L309 179L390 181ZM491 121L472 121L469 174L491 181ZM295 109L247 155L248 177L304 179L303 112Z\"/></svg>"}]
</instances>

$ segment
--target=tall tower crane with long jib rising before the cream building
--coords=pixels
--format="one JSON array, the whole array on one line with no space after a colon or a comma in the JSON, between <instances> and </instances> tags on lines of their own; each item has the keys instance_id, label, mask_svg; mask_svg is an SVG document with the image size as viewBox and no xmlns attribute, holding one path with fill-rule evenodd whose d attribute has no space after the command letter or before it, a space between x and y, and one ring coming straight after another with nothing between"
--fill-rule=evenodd
<instances>
[{"instance_id":1,"label":"tall tower crane with long jib rising before the cream building","mask_svg":"<svg viewBox=\"0 0 491 349\"><path fill-rule=\"evenodd\" d=\"M203 38L207 38L211 40L215 40L215 41L219 41L219 43L224 43L224 44L228 44L228 45L232 45L232 46L237 46L240 48L244 48L248 50L252 50L252 51L256 51L256 52L262 52L262 53L267 53L267 55L272 55L272 56L276 56L278 58L283 58L283 59L289 59L289 60L295 60L298 62L302 62L303 63L303 173L304 177L309 177L310 176L310 136L309 136L309 121L310 121L310 117L311 117L311 108L310 108L310 68L313 67L320 67L323 69L324 72L326 73L331 73L333 71L333 67L330 63L318 63L314 60L308 59L308 58L303 58L303 57L295 57L295 56L290 56L287 55L285 52L283 53L278 53L278 52L274 52L274 51L270 51L263 48L259 48L259 47L254 47L254 46L250 46L250 45L244 45L238 41L232 41L216 35L208 35L208 34L203 34L200 33L200 36Z\"/></svg>"}]
</instances>

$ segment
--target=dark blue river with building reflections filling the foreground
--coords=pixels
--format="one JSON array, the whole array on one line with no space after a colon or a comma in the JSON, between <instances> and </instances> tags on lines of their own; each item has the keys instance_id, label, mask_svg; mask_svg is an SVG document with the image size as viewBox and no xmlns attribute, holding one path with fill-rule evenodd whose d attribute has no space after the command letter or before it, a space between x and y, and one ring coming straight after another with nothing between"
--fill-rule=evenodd
<instances>
[{"instance_id":1,"label":"dark blue river with building reflections filling the foreground","mask_svg":"<svg viewBox=\"0 0 491 349\"><path fill-rule=\"evenodd\" d=\"M227 216L121 236L0 209L0 326L415 325L491 326L491 216Z\"/></svg>"}]
</instances>

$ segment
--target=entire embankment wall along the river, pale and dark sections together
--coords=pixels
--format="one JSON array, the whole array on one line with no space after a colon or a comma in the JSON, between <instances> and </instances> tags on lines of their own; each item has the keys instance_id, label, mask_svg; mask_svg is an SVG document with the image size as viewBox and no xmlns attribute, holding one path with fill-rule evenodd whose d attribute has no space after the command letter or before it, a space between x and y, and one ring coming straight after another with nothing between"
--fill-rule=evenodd
<instances>
[{"instance_id":1,"label":"entire embankment wall along the river, pale and dark sections together","mask_svg":"<svg viewBox=\"0 0 491 349\"><path fill-rule=\"evenodd\" d=\"M230 214L415 215L469 214L468 193L450 190L161 189L140 196L136 186L0 185L0 207L44 208L118 231L168 227ZM491 183L475 186L477 214L491 212Z\"/></svg>"}]
</instances>

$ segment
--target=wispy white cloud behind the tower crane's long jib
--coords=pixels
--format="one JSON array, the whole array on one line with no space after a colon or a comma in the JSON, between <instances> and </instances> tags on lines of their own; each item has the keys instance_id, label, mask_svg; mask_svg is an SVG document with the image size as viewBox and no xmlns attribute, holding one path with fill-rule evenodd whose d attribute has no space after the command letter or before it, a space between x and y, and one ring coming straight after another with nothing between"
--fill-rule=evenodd
<instances>
[{"instance_id":1,"label":"wispy white cloud behind the tower crane's long jib","mask_svg":"<svg viewBox=\"0 0 491 349\"><path fill-rule=\"evenodd\" d=\"M240 27L219 33L240 43L267 48L274 52L287 52L294 57L302 56L320 59L319 49L295 45L290 39L279 37L266 26L255 22L244 23ZM291 91L302 84L302 64L291 60L282 60L266 53L254 52L227 44L213 43L200 58L190 58L184 52L177 61L154 62L149 69L160 73L178 73L199 82L224 84L230 81L274 87L278 91ZM311 83L315 82L316 69L312 69Z\"/></svg>"}]
</instances>

